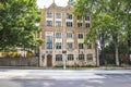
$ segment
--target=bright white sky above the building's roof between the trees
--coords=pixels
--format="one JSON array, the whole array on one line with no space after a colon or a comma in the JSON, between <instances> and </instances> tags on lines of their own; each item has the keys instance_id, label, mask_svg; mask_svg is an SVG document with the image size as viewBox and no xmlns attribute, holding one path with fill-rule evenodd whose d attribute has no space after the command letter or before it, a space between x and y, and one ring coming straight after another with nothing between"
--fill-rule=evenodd
<instances>
[{"instance_id":1,"label":"bright white sky above the building's roof between the trees","mask_svg":"<svg viewBox=\"0 0 131 87\"><path fill-rule=\"evenodd\" d=\"M55 0L55 3L58 7L66 7L68 4L68 1L69 0ZM48 8L52 2L53 0L37 0L37 4L39 9L44 9L44 5Z\"/></svg>"}]
</instances>

